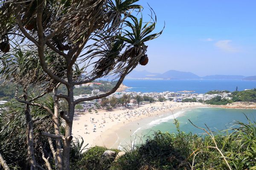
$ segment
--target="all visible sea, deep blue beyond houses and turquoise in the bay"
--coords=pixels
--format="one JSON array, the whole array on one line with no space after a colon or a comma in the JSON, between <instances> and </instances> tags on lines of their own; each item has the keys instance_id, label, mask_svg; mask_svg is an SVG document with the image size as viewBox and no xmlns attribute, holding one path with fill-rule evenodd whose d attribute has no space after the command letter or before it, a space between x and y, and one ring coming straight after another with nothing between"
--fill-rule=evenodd
<instances>
[{"instance_id":1,"label":"all visible sea, deep blue beyond houses and turquoise in the bay","mask_svg":"<svg viewBox=\"0 0 256 170\"><path fill-rule=\"evenodd\" d=\"M129 88L127 91L135 92L163 92L163 91L195 91L203 94L211 90L239 91L256 88L256 81L243 80L142 80L125 79L124 85ZM226 133L227 130L236 127L236 122L247 123L256 121L256 109L230 109L230 108L184 108L176 113L167 112L154 118L142 119L140 122L131 122L134 125L130 135L119 136L119 149L125 146L145 142L148 136L160 130L161 132L177 133L174 119L180 123L180 130L186 133L203 135L205 132L198 127L207 128L217 133ZM192 125L191 122L194 124ZM120 133L119 133L120 134ZM119 138L119 139L120 139Z\"/></svg>"}]
</instances>

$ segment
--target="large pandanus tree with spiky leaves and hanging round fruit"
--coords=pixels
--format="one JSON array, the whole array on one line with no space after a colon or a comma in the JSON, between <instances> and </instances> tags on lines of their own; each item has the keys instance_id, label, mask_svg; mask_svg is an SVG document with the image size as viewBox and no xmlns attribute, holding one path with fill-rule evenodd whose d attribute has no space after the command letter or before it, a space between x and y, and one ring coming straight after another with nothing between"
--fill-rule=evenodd
<instances>
[{"instance_id":1,"label":"large pandanus tree with spiky leaves and hanging round fruit","mask_svg":"<svg viewBox=\"0 0 256 170\"><path fill-rule=\"evenodd\" d=\"M159 37L163 30L154 33L157 20L154 11L150 7L149 21L143 21L143 7L134 4L137 2L138 0L1 0L1 82L5 85L13 82L20 85L23 91L22 95L18 90L15 91L15 99L20 104L25 104L27 154L24 159L30 170L44 169L36 160L36 130L33 125L38 120L32 117L32 107L47 110L54 122L53 126L47 126L54 128L52 133L47 128L40 132L42 138L48 138L55 157L47 157L41 149L44 167L48 170L52 170L52 167L70 170L76 105L113 94L125 76L137 65L148 63L146 44ZM113 86L99 87L99 90L105 91L100 95L79 99L74 97L76 85L103 77L112 77L117 82ZM62 85L67 94L58 91ZM37 92L35 97L31 97L29 88ZM54 94L53 107L37 103L51 92ZM60 99L66 100L67 111L59 110ZM59 117L62 119L58 119ZM63 124L65 133L61 132ZM3 159L0 158L0 161L3 162ZM52 161L55 166L52 166Z\"/></svg>"}]
</instances>

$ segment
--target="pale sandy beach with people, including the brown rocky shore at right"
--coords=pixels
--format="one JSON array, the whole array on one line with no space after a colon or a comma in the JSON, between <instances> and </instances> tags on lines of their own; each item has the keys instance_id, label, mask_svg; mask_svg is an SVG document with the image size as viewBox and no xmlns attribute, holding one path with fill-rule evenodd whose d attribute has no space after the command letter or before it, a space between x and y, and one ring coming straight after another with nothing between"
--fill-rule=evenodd
<instances>
[{"instance_id":1,"label":"pale sandy beach with people, including the brown rocky shore at right","mask_svg":"<svg viewBox=\"0 0 256 170\"><path fill-rule=\"evenodd\" d=\"M154 121L155 118L165 118L166 113L170 114L172 112L173 115L169 116L176 118L182 115L182 113L175 115L176 113L191 108L256 109L256 104L253 103L252 105L243 102L236 102L235 105L207 105L198 102L166 101L142 105L139 108L115 109L113 111L99 110L98 113L76 113L73 123L73 136L81 136L84 139L84 145L88 143L87 148L96 145L117 148L120 139L133 135L143 127L141 122L147 124L148 121Z\"/></svg>"}]
</instances>

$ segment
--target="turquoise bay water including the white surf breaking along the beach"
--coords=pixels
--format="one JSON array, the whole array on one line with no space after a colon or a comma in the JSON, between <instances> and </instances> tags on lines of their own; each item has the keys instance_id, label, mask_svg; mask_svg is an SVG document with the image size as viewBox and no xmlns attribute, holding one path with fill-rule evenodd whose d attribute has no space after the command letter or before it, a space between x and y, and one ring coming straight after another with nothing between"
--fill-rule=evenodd
<instances>
[{"instance_id":1,"label":"turquoise bay water including the white surf breaking along the beach","mask_svg":"<svg viewBox=\"0 0 256 170\"><path fill-rule=\"evenodd\" d=\"M203 130L193 126L193 122L198 127L206 128L205 124L215 132L229 129L234 125L235 121L247 122L246 116L251 120L256 120L255 109L225 109L225 108L194 108L183 109L177 113L167 113L162 116L157 116L154 119L148 118L139 122L140 126L133 129L131 136L126 136L119 143L119 148L126 144L135 144L145 141L147 136L150 136L154 131L177 133L174 125L174 118L180 122L180 130L186 133L192 132L199 135L205 133ZM133 126L136 126L135 124Z\"/></svg>"}]
</instances>

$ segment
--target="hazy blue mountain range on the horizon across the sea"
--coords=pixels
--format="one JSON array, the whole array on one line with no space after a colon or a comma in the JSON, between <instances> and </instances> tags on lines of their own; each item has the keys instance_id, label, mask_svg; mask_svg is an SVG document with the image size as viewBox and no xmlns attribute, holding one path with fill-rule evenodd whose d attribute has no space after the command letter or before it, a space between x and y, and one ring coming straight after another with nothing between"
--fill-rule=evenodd
<instances>
[{"instance_id":1,"label":"hazy blue mountain range on the horizon across the sea","mask_svg":"<svg viewBox=\"0 0 256 170\"><path fill-rule=\"evenodd\" d=\"M238 80L256 80L256 76L245 77L241 75L209 75L199 77L191 72L169 70L163 74L151 73L148 71L132 71L127 76L128 79L238 79Z\"/></svg>"}]
</instances>

